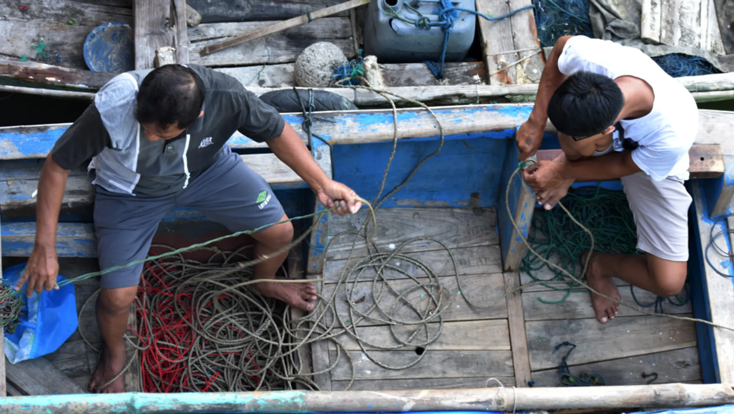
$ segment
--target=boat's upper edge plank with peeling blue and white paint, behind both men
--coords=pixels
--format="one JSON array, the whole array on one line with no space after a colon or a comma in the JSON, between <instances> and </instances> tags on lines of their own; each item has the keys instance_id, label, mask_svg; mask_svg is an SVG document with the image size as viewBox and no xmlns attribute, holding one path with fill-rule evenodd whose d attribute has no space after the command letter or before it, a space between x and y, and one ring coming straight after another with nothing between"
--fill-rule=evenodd
<instances>
[{"instance_id":1,"label":"boat's upper edge plank with peeling blue and white paint, behind both men","mask_svg":"<svg viewBox=\"0 0 734 414\"><path fill-rule=\"evenodd\" d=\"M516 85L517 86L517 85ZM467 88L464 88L467 89ZM471 88L469 88L471 89ZM524 104L497 104L479 106L451 106L433 109L443 126L447 139L465 139L465 134L486 134L492 138L511 138L517 126L527 120L532 106ZM314 131L334 144L387 142L393 139L394 120L389 109L322 112L335 123L319 123ZM284 115L286 122L296 129L302 139L301 115ZM69 124L45 126L18 126L0 128L0 159L46 158L54 143ZM734 155L734 140L725 139L734 128L734 113L699 110L697 144L720 144L723 155ZM548 123L546 131L555 132ZM436 122L422 110L398 109L398 138L437 137ZM263 148L237 134L230 139L233 148Z\"/></svg>"}]
</instances>

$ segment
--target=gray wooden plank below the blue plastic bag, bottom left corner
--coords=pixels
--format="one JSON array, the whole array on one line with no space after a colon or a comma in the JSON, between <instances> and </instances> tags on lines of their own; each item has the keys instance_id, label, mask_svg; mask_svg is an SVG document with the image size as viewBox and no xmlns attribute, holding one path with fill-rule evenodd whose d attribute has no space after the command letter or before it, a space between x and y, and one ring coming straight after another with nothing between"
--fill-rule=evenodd
<instances>
[{"instance_id":1,"label":"gray wooden plank below the blue plastic bag, bottom left corner","mask_svg":"<svg viewBox=\"0 0 734 414\"><path fill-rule=\"evenodd\" d=\"M7 381L28 395L81 394L84 390L45 357L5 366Z\"/></svg>"}]
</instances>

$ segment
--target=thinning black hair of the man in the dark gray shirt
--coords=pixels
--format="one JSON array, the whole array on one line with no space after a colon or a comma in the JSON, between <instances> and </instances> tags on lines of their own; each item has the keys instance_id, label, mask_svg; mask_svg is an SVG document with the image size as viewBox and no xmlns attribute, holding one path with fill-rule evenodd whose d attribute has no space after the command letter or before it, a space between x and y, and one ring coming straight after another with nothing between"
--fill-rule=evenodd
<instances>
[{"instance_id":1,"label":"thinning black hair of the man in the dark gray shirt","mask_svg":"<svg viewBox=\"0 0 734 414\"><path fill-rule=\"evenodd\" d=\"M139 123L186 129L199 117L203 104L201 78L186 66L164 65L142 80L135 117Z\"/></svg>"}]
</instances>

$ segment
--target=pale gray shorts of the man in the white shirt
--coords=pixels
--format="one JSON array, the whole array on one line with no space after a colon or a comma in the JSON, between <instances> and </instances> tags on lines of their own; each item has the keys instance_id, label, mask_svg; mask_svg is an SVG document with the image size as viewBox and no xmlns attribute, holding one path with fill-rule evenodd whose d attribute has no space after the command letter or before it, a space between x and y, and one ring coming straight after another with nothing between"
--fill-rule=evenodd
<instances>
[{"instance_id":1,"label":"pale gray shorts of the man in the white shirt","mask_svg":"<svg viewBox=\"0 0 734 414\"><path fill-rule=\"evenodd\" d=\"M683 180L654 181L637 172L622 177L637 226L637 248L669 261L688 261L688 195Z\"/></svg>"}]
</instances>

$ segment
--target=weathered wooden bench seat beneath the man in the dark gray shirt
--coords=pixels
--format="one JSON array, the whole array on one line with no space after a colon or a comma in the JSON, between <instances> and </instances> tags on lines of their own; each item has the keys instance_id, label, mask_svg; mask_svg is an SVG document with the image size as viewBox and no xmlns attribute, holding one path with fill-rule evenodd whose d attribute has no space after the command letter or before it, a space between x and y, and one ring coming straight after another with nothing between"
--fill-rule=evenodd
<instances>
[{"instance_id":1,"label":"weathered wooden bench seat beneath the man in the dark gray shirt","mask_svg":"<svg viewBox=\"0 0 734 414\"><path fill-rule=\"evenodd\" d=\"M253 171L258 172L272 189L305 188L305 182L272 153L247 154L242 161ZM3 161L0 163L0 179L5 186L0 190L0 211L2 217L34 217L37 198L38 178L43 161ZM79 214L91 211L94 202L94 189L87 173L73 171L69 175L66 192L62 202L62 214Z\"/></svg>"}]
</instances>

